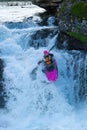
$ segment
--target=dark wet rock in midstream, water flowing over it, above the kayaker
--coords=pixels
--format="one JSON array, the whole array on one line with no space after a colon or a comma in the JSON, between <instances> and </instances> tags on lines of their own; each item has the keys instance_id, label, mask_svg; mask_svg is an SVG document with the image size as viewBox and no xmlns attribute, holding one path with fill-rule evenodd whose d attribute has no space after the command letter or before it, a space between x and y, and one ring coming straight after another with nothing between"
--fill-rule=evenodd
<instances>
[{"instance_id":1,"label":"dark wet rock in midstream, water flowing over it, above the kayaker","mask_svg":"<svg viewBox=\"0 0 87 130\"><path fill-rule=\"evenodd\" d=\"M47 38L53 38L57 32L57 28L45 28L38 30L31 36L31 39L29 39L29 46L36 49L39 47L46 47L48 45Z\"/></svg>"}]
</instances>

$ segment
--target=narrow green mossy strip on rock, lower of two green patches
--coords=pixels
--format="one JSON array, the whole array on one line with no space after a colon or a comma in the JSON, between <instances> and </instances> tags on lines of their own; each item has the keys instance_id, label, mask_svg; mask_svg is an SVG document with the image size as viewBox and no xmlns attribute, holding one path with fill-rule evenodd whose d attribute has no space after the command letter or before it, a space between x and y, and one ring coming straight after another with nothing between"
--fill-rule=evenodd
<instances>
[{"instance_id":1,"label":"narrow green mossy strip on rock, lower of two green patches","mask_svg":"<svg viewBox=\"0 0 87 130\"><path fill-rule=\"evenodd\" d=\"M75 37L76 39L80 40L81 42L87 43L87 36L83 34L79 34L76 32L67 32L70 36Z\"/></svg>"}]
</instances>

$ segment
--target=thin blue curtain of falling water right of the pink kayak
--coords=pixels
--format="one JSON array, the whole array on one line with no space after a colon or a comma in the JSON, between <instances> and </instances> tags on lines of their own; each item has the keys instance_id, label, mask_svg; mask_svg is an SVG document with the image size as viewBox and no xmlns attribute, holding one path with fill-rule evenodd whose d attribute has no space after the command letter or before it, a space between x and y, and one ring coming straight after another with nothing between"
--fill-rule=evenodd
<instances>
[{"instance_id":1,"label":"thin blue curtain of falling water right of the pink kayak","mask_svg":"<svg viewBox=\"0 0 87 130\"><path fill-rule=\"evenodd\" d=\"M77 104L87 97L87 56L83 51L67 51L62 55L66 64L64 78L68 84L63 89L66 89L70 104Z\"/></svg>"}]
</instances>

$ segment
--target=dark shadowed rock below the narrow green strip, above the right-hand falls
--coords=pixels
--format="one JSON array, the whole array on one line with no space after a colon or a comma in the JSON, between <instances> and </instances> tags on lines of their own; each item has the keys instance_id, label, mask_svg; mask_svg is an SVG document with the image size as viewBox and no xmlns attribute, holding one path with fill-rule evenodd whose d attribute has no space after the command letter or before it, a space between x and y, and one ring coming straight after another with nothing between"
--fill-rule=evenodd
<instances>
[{"instance_id":1,"label":"dark shadowed rock below the narrow green strip, above the right-hand falls","mask_svg":"<svg viewBox=\"0 0 87 130\"><path fill-rule=\"evenodd\" d=\"M66 32L60 32L58 36L59 49L68 50L87 50L87 44L77 40L74 37L69 36Z\"/></svg>"}]
</instances>

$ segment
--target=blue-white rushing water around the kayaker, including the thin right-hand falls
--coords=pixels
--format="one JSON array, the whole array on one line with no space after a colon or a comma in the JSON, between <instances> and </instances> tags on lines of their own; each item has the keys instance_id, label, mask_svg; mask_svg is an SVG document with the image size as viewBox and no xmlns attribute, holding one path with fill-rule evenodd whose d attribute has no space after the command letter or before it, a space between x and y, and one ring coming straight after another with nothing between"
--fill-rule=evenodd
<instances>
[{"instance_id":1,"label":"blue-white rushing water around the kayaker, including the thin right-hand falls","mask_svg":"<svg viewBox=\"0 0 87 130\"><path fill-rule=\"evenodd\" d=\"M7 95L6 106L0 110L0 130L87 130L87 105L76 105L86 95L85 53L53 49L59 70L54 83L48 83L41 66L33 71L43 50L56 42L57 33L49 32L44 39L38 33L54 27L50 20L48 26L33 20L0 24L0 58L4 60ZM32 37L35 33L37 39Z\"/></svg>"}]
</instances>

